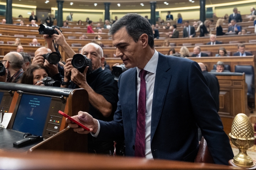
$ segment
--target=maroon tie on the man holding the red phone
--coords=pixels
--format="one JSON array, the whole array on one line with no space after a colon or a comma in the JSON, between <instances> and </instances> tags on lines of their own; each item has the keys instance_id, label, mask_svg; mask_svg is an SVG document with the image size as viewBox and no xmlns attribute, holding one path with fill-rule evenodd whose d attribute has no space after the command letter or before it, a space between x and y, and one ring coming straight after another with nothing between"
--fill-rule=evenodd
<instances>
[{"instance_id":1,"label":"maroon tie on the man holding the red phone","mask_svg":"<svg viewBox=\"0 0 256 170\"><path fill-rule=\"evenodd\" d=\"M141 70L139 72L141 77L141 88L139 90L138 115L135 137L135 157L145 157L146 73L146 70Z\"/></svg>"}]
</instances>

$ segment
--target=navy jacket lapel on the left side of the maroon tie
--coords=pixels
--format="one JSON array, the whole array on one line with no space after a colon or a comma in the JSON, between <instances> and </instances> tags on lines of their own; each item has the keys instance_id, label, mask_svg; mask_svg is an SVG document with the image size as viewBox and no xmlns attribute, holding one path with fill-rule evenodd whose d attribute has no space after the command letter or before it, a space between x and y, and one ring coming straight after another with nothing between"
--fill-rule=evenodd
<instances>
[{"instance_id":1,"label":"navy jacket lapel on the left side of the maroon tie","mask_svg":"<svg viewBox=\"0 0 256 170\"><path fill-rule=\"evenodd\" d=\"M132 132L136 134L136 123L137 123L137 70L136 68L132 68L133 71L130 74L130 79L127 83L128 89L128 98L127 106L131 106L128 108L130 113L130 119L132 123Z\"/></svg>"}]
</instances>

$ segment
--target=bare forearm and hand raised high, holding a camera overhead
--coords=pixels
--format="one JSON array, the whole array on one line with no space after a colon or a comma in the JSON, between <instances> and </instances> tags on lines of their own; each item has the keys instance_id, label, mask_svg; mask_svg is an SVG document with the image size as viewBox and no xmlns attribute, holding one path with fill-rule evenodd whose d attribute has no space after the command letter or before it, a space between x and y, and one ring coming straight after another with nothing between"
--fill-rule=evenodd
<instances>
[{"instance_id":1,"label":"bare forearm and hand raised high, holding a camera overhead","mask_svg":"<svg viewBox=\"0 0 256 170\"><path fill-rule=\"evenodd\" d=\"M76 54L75 51L67 44L65 37L63 36L61 31L57 28L55 28L55 30L58 32L59 35L53 34L52 36L54 37L54 40L63 48L65 54L67 54L67 57L73 58L73 56Z\"/></svg>"}]
</instances>

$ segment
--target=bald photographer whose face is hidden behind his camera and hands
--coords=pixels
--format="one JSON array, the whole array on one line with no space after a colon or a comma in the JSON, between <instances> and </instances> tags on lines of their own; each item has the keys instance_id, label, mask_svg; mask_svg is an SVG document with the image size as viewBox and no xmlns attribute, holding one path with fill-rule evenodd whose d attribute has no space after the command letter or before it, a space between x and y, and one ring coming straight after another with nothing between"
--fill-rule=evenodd
<instances>
[{"instance_id":1,"label":"bald photographer whose face is hidden behind his camera and hands","mask_svg":"<svg viewBox=\"0 0 256 170\"><path fill-rule=\"evenodd\" d=\"M49 44L49 46L50 46L50 44ZM48 49L47 47L40 47L39 49L37 49L35 51L35 57L33 58L31 65L33 65L33 66L40 65L40 66L46 67L46 69L48 70L49 77L51 77L55 81L61 81L63 76L61 76L61 73L59 72L58 64L50 64L43 57L44 54L48 54L48 53L52 53L52 50Z\"/></svg>"}]
</instances>

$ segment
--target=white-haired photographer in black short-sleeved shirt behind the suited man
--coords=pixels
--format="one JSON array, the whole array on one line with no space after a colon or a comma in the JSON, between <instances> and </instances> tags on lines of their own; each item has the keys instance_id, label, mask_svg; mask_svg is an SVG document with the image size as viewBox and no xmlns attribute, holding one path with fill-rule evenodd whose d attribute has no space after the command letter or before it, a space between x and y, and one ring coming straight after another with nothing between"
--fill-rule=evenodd
<instances>
[{"instance_id":1,"label":"white-haired photographer in black short-sleeved shirt behind the suited man","mask_svg":"<svg viewBox=\"0 0 256 170\"><path fill-rule=\"evenodd\" d=\"M118 87L117 82L111 75L111 71L102 70L101 64L104 63L102 48L94 43L89 43L82 48L82 55L86 55L91 60L91 70L88 66L80 72L72 66L72 57L76 54L67 44L63 34L55 29L59 35L53 34L54 40L65 51L69 59L66 60L64 66L64 83L70 85L62 85L69 88L83 88L89 94L89 112L93 117L100 120L113 120L114 112L117 108ZM87 74L87 72L91 72ZM90 153L112 155L114 151L113 141L94 142L92 136L88 135L88 150Z\"/></svg>"}]
</instances>

